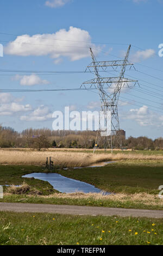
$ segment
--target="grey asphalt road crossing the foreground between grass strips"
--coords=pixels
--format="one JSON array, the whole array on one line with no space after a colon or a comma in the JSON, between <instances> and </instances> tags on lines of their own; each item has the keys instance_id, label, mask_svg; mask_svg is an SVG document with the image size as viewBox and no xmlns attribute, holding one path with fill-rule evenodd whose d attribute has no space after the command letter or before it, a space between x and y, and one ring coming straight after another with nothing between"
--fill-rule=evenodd
<instances>
[{"instance_id":1,"label":"grey asphalt road crossing the foreground between grass strips","mask_svg":"<svg viewBox=\"0 0 163 256\"><path fill-rule=\"evenodd\" d=\"M77 206L77 205L54 205L54 204L22 204L0 203L0 211L14 212L48 212L50 214L71 214L90 216L133 216L163 218L161 210L121 209L107 207Z\"/></svg>"}]
</instances>

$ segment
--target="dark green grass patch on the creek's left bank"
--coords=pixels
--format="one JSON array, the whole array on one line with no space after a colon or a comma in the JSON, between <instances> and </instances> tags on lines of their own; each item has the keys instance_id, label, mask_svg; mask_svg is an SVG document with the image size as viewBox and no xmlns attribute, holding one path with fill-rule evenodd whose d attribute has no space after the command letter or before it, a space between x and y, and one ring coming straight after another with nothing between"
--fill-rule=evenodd
<instances>
[{"instance_id":1,"label":"dark green grass patch on the creek's left bank","mask_svg":"<svg viewBox=\"0 0 163 256\"><path fill-rule=\"evenodd\" d=\"M42 194L58 192L47 181L22 178L23 175L34 172L40 173L43 171L39 166L0 166L0 185L21 185L25 180L28 185L35 187Z\"/></svg>"}]
</instances>

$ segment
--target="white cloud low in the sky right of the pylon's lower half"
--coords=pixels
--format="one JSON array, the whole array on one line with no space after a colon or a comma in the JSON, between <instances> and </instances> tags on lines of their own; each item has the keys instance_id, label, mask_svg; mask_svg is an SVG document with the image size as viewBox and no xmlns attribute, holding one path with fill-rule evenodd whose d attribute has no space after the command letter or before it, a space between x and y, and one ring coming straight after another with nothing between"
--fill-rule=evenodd
<instances>
[{"instance_id":1,"label":"white cloud low in the sky right of the pylon's lower half","mask_svg":"<svg viewBox=\"0 0 163 256\"><path fill-rule=\"evenodd\" d=\"M140 126L161 127L163 125L163 115L149 110L145 105L140 108L130 109L129 113L124 114L123 119L133 119Z\"/></svg>"}]
</instances>

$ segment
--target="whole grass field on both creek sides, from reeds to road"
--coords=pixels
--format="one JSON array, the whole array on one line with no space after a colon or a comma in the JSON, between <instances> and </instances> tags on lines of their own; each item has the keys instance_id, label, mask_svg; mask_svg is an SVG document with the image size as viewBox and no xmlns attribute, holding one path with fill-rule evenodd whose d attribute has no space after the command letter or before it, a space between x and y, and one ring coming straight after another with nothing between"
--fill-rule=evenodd
<instances>
[{"instance_id":1,"label":"whole grass field on both creek sides, from reeds to road","mask_svg":"<svg viewBox=\"0 0 163 256\"><path fill-rule=\"evenodd\" d=\"M120 161L104 167L59 170L58 173L95 185L102 190L114 192L108 196L101 194L55 193L48 182L21 178L32 172L42 172L38 166L0 166L0 185L20 185L23 181L37 191L35 193L9 194L5 188L0 202L43 203L107 206L117 208L163 210L163 200L158 197L158 187L162 185L163 163L160 161ZM115 194L116 193L116 194Z\"/></svg>"}]
</instances>

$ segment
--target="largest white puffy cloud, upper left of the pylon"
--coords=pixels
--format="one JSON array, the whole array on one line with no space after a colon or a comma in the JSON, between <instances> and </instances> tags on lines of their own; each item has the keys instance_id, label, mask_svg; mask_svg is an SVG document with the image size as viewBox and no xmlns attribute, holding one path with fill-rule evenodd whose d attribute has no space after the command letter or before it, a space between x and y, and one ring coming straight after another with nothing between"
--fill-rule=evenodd
<instances>
[{"instance_id":1,"label":"largest white puffy cloud, upper left of the pylon","mask_svg":"<svg viewBox=\"0 0 163 256\"><path fill-rule=\"evenodd\" d=\"M101 49L91 43L89 32L70 27L68 31L60 29L53 34L17 36L4 48L4 52L17 56L51 56L60 62L60 57L68 57L72 61L90 57L89 47L95 54Z\"/></svg>"}]
</instances>

